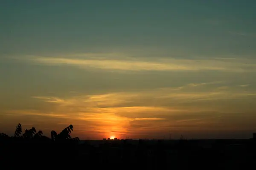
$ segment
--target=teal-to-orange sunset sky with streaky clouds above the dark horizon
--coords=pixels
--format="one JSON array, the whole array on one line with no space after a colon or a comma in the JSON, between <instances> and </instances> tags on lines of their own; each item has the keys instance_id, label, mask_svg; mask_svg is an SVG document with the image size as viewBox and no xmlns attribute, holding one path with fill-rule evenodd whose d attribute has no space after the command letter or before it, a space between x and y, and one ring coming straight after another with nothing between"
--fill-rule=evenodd
<instances>
[{"instance_id":1,"label":"teal-to-orange sunset sky with streaky clouds above the dark horizon","mask_svg":"<svg viewBox=\"0 0 256 170\"><path fill-rule=\"evenodd\" d=\"M255 0L1 0L0 132L251 138Z\"/></svg>"}]
</instances>

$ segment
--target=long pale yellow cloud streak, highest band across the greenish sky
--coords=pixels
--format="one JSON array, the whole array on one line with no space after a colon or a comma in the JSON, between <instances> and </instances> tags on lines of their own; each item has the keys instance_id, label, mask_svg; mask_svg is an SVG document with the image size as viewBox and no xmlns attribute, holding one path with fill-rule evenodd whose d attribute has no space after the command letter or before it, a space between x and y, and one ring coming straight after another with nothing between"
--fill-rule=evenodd
<instances>
[{"instance_id":1,"label":"long pale yellow cloud streak, highest band across the greenish sky","mask_svg":"<svg viewBox=\"0 0 256 170\"><path fill-rule=\"evenodd\" d=\"M242 63L236 60L222 59L175 59L175 58L158 58L145 60L143 57L123 57L122 54L117 57L92 57L84 54L84 57L25 57L30 63L39 63L44 65L72 65L83 69L103 69L116 71L256 71L256 62ZM22 57L23 58L23 57ZM24 58L23 58L24 59Z\"/></svg>"}]
</instances>

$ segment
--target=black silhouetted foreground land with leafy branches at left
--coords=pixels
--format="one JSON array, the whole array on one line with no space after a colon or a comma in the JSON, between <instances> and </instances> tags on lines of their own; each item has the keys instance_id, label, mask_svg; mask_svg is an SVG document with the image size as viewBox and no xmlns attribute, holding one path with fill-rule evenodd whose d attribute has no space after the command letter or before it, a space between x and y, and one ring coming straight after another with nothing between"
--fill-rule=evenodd
<instances>
[{"instance_id":1,"label":"black silhouetted foreground land with leafy branches at left","mask_svg":"<svg viewBox=\"0 0 256 170\"><path fill-rule=\"evenodd\" d=\"M177 140L177 141L92 141L79 143L71 138L73 125L51 138L34 127L22 131L17 125L14 136L0 133L0 163L21 167L103 169L248 169L256 162L256 141ZM39 168L40 169L40 168Z\"/></svg>"}]
</instances>

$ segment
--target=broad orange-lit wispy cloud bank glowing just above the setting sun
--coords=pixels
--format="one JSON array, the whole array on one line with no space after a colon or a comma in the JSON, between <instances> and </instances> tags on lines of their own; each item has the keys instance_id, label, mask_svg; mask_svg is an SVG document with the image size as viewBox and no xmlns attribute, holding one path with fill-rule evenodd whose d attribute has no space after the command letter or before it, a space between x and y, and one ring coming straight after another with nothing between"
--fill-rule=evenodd
<instances>
[{"instance_id":1,"label":"broad orange-lit wispy cloud bank glowing just above the setting sun","mask_svg":"<svg viewBox=\"0 0 256 170\"><path fill-rule=\"evenodd\" d=\"M55 122L63 124L72 123L76 125L78 133L86 132L90 135L95 133L100 133L102 136L126 135L131 132L138 134L153 132L156 129L166 130L170 127L175 127L176 130L187 128L200 130L200 127L217 124L221 115L218 112L209 112L218 111L216 108L209 108L209 105L196 107L197 102L246 99L256 96L256 93L253 92L232 91L232 89L221 91L212 88L209 91L200 91L201 88L197 88L215 83L217 82L184 85L184 87L192 89L189 92L173 91L170 88L142 92L85 94L66 98L32 96L32 98L45 103L46 107L48 103L52 110L11 110L5 113L27 116L29 119L37 121L55 120ZM197 89L196 92L193 91L194 88ZM150 103L152 99L157 101L154 106ZM183 105L190 102L194 102L195 106ZM225 114L225 111L221 110L221 113Z\"/></svg>"}]
</instances>

